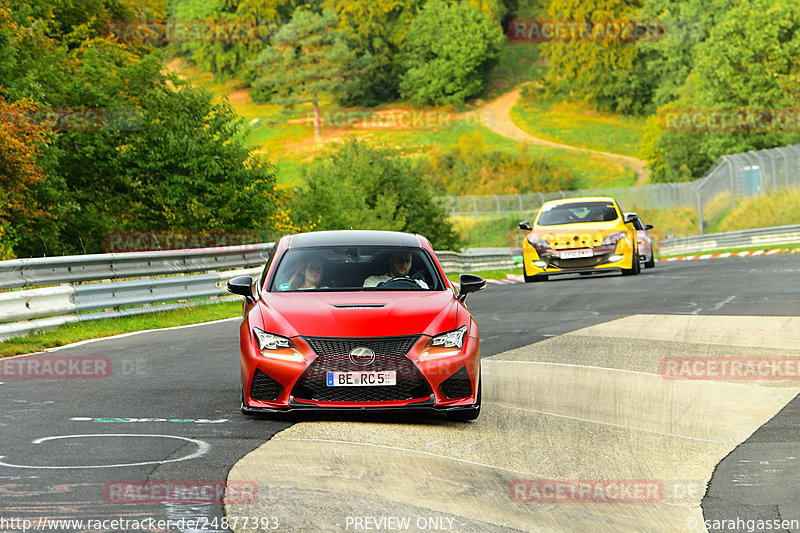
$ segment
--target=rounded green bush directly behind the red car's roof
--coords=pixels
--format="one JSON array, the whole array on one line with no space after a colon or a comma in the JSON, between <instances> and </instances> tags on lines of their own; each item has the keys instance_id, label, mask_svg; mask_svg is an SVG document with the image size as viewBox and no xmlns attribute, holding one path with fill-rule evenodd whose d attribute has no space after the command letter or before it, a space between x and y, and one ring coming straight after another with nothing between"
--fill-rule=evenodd
<instances>
[{"instance_id":1,"label":"rounded green bush directly behind the red car's roof","mask_svg":"<svg viewBox=\"0 0 800 533\"><path fill-rule=\"evenodd\" d=\"M292 202L296 225L420 233L437 249L460 244L419 170L387 148L350 139L301 174L304 185Z\"/></svg>"}]
</instances>

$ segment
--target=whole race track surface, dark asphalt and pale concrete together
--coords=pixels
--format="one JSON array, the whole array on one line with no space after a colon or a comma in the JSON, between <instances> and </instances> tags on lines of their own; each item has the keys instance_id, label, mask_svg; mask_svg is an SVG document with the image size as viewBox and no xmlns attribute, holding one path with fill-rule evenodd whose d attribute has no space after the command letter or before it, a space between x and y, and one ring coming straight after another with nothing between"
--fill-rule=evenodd
<instances>
[{"instance_id":1,"label":"whole race track surface, dark asphalt and pale concrete together","mask_svg":"<svg viewBox=\"0 0 800 533\"><path fill-rule=\"evenodd\" d=\"M227 531L226 516L235 531L722 531L703 521L737 519L747 531L747 520L800 520L799 257L492 285L467 303L483 356L472 423L246 418L236 321L4 360L0 532L22 520L78 530L43 518L169 520L150 530L171 531ZM95 375L33 378L32 360L76 356ZM680 366L688 360L710 376L728 358L785 361L785 375L671 374L699 372ZM113 525L80 530L134 530Z\"/></svg>"}]
</instances>

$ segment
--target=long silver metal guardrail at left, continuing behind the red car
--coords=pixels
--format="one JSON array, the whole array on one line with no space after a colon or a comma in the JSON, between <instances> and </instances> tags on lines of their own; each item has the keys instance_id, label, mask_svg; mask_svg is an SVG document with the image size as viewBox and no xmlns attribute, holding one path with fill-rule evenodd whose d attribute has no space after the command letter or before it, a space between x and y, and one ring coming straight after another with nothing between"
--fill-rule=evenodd
<instances>
[{"instance_id":1,"label":"long silver metal guardrail at left, continuing behind the red car","mask_svg":"<svg viewBox=\"0 0 800 533\"><path fill-rule=\"evenodd\" d=\"M272 247L269 243L2 261L0 289L7 292L0 292L0 340L66 323L218 301L228 296L228 280L259 275ZM448 271L514 266L511 252L503 249L436 255Z\"/></svg>"}]
</instances>

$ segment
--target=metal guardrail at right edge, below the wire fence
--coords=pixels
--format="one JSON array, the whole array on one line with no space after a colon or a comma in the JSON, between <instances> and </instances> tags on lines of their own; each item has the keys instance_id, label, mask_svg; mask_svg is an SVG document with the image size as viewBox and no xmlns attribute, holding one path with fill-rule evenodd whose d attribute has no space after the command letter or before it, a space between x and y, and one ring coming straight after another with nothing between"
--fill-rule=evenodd
<instances>
[{"instance_id":1,"label":"metal guardrail at right edge, below the wire fence","mask_svg":"<svg viewBox=\"0 0 800 533\"><path fill-rule=\"evenodd\" d=\"M751 246L779 246L782 244L800 243L800 225L777 226L774 228L749 229L727 233L711 233L667 239L659 242L662 255L692 254L713 252L731 248L747 248Z\"/></svg>"}]
</instances>

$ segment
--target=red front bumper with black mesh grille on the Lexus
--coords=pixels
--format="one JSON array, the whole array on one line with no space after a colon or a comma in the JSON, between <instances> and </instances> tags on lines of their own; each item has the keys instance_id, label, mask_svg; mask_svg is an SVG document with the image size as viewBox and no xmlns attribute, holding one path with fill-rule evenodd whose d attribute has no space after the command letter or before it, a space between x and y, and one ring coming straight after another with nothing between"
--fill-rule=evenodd
<instances>
[{"instance_id":1,"label":"red front bumper with black mesh grille on the Lexus","mask_svg":"<svg viewBox=\"0 0 800 533\"><path fill-rule=\"evenodd\" d=\"M302 357L265 357L253 344L242 350L242 410L279 413L291 410L434 410L468 409L476 403L478 339L465 337L461 349L427 348L430 337L296 337L293 350ZM354 365L353 347L373 349L375 361ZM278 354L286 355L286 354ZM395 371L397 384L379 387L329 387L327 372Z\"/></svg>"}]
</instances>

